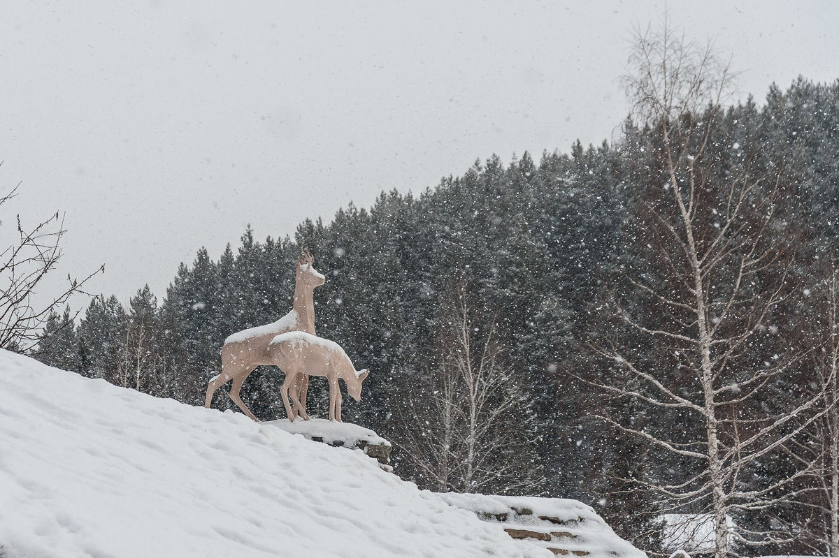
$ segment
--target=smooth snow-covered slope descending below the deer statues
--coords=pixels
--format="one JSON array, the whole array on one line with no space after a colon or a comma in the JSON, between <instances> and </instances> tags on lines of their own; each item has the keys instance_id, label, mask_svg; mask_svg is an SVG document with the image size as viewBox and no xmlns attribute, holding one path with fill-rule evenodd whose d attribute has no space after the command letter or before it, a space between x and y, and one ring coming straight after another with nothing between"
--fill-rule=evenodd
<instances>
[{"instance_id":1,"label":"smooth snow-covered slope descending below the deer statues","mask_svg":"<svg viewBox=\"0 0 839 558\"><path fill-rule=\"evenodd\" d=\"M43 556L551 556L360 451L0 350L0 545Z\"/></svg>"}]
</instances>

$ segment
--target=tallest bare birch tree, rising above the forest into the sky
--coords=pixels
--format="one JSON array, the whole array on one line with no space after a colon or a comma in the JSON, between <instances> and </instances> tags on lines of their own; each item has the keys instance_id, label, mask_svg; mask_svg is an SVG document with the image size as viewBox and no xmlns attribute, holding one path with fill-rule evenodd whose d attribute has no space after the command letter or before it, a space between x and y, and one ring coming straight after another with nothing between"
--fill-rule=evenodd
<instances>
[{"instance_id":1,"label":"tallest bare birch tree, rising above the forest into the sky","mask_svg":"<svg viewBox=\"0 0 839 558\"><path fill-rule=\"evenodd\" d=\"M784 538L730 519L792 497L811 463L759 485L753 468L820 416L811 398L784 409L763 405L794 356L771 322L794 291L778 215L782 174L755 151L725 157L721 105L731 75L710 46L666 24L648 28L636 35L629 70L624 83L644 127L635 153L648 163L639 170L638 222L630 225L643 263L626 267L610 289L628 336L602 334L592 346L623 376L600 381L604 390L669 418L637 426L601 417L685 463L690 473L682 478L638 483L659 494L663 511L710 513L714 555L723 558L732 540Z\"/></svg>"}]
</instances>

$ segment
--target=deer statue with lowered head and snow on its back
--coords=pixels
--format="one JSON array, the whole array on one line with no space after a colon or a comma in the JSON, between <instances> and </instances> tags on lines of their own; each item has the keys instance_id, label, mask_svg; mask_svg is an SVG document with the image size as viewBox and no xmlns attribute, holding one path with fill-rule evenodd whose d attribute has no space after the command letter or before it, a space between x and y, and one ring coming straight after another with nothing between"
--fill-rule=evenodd
<instances>
[{"instance_id":1,"label":"deer statue with lowered head and snow on its back","mask_svg":"<svg viewBox=\"0 0 839 558\"><path fill-rule=\"evenodd\" d=\"M352 361L341 349L341 345L329 339L316 337L304 331L291 331L278 335L268 344L268 354L271 362L285 373L283 386L279 393L283 395L285 412L289 421L294 421L294 413L289 406L289 387L292 387L302 376L326 376L329 382L329 420L341 422L341 387L338 379L344 380L347 393L352 399L361 400L362 381L367 378L369 370L357 370ZM303 420L308 421L305 406L294 390L290 390L294 405L300 411Z\"/></svg>"}]
</instances>

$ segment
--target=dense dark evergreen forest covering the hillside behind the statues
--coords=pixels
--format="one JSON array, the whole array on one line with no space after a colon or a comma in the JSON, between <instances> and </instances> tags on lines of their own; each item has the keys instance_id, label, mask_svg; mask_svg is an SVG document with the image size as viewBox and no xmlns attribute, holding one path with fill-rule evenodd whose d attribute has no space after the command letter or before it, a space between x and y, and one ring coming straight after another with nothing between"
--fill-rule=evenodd
<instances>
[{"instance_id":1,"label":"dense dark evergreen forest covering the hillside behind the statues","mask_svg":"<svg viewBox=\"0 0 839 558\"><path fill-rule=\"evenodd\" d=\"M782 415L822 393L810 357L823 357L828 349L822 343L831 339L814 324L828 322L834 273L828 262L839 233L839 82L802 79L785 92L773 87L762 106L750 98L724 111L703 110L680 117L690 119L685 129L710 130L701 155L707 164L691 166L691 153L700 147L687 142L683 166L674 171L677 181L703 173L696 200L704 205L690 214L698 244L725 226L721 215L731 207L724 202L731 202L727 195L738 181L753 180L754 188L740 201L754 213L737 223L741 228L730 235L732 246L743 246L748 232L776 241L780 258L767 256L750 297L729 309L741 325L756 320L755 327L765 332L732 351L738 363L732 385L747 382L748 390L749 370L784 363L775 367L777 373L755 380L761 386L757 399L736 410L727 407L721 429L736 424L746 436L763 426L766 409ZM705 419L628 395L641 393L646 380L624 365L650 370L675 386L667 389L677 397L690 399L701 390L691 380L690 366L673 357L679 349L645 334L663 319L685 332L696 328L693 318L672 313L651 295L662 292L687 307L695 302L679 294L685 280L680 266L687 264L670 258L681 248L667 240L668 224L679 215L668 201L674 186L665 143L660 127L628 120L614 144L585 148L577 142L570 154L545 152L538 162L528 153L509 163L493 156L420 195L393 190L369 210L353 205L339 210L328 224L305 220L294 240L260 242L248 229L235 251L228 245L217 261L201 249L191 265L181 265L159 303L144 287L128 307L115 297L96 297L76 324L69 311L52 316L41 358L81 375L201 405L207 380L219 371L224 338L289 311L294 260L307 247L326 275L326 285L315 289L318 333L341 344L358 369L371 370L362 401L345 399L345 420L391 439L400 475L434 489L479 486L483 492L581 499L621 535L654 550L659 541L654 518L660 513L711 509L710 495L668 502L660 491L646 490L683 482L690 488L688 480L701 475L702 467L644 435L696 447ZM764 204L767 199L772 204ZM761 220L758 208L771 219ZM709 296L719 300L711 305L743 287L732 283L736 266L714 273L719 278ZM775 287L783 299L755 318L753 302L766 300ZM452 313L455 307L461 312ZM714 319L715 313L706 317ZM469 347L453 334L458 324L461 330L469 324L465 329L474 334ZM475 389L492 387L487 405L505 406L503 421L492 417L499 421L498 436L478 448L486 458L475 462L472 480L463 481L454 470L451 478L435 477L428 465L439 470L446 459L460 458L450 446L458 439L468 442L467 422L440 426L440 407L423 401L440 400L446 382L437 380L448 377L453 354L475 352L478 363L477 349L487 347L492 365L503 373L492 376L501 379L492 386L479 381ZM284 416L279 374L258 369L242 389L243 400L263 420ZM325 414L325 391L312 381L310 412ZM233 408L222 390L214 406ZM818 413L810 406L801 414ZM800 424L784 421L777 431L783 444L737 469L737 478L725 479L745 492L765 489L764 496L777 497L766 508L729 511L761 533L763 542L772 542L769 550L794 554L824 551L831 523L822 490L829 488L829 478L812 465L817 459L805 456L821 444L821 434L814 433L821 423L795 426ZM721 436L723 445L728 443L727 434ZM446 444L440 452L425 451L418 437L446 437ZM807 472L796 474L802 461L809 463ZM524 486L511 480L517 471L529 478ZM780 488L778 475L793 480ZM768 518L782 525L775 529ZM766 535L789 533L790 524L799 530L795 537Z\"/></svg>"}]
</instances>

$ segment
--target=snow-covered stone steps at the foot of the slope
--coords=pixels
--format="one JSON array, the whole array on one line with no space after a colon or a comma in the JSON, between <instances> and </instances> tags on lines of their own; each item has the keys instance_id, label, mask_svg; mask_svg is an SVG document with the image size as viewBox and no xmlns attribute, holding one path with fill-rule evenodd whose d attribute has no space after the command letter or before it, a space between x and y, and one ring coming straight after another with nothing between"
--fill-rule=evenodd
<instances>
[{"instance_id":1,"label":"snow-covered stone steps at the foot of the slope","mask_svg":"<svg viewBox=\"0 0 839 558\"><path fill-rule=\"evenodd\" d=\"M490 524L550 535L524 544L560 548L586 558L647 558L621 539L590 506L577 500L484 494L440 494L450 505L467 509Z\"/></svg>"}]
</instances>

